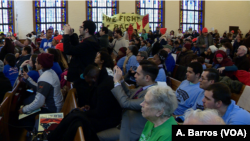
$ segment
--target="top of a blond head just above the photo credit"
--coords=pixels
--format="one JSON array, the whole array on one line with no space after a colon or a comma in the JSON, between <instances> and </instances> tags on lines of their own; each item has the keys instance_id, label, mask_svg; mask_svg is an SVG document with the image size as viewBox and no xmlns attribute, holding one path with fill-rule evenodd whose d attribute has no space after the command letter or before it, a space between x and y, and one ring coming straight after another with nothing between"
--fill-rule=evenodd
<instances>
[{"instance_id":1,"label":"top of a blond head just above the photo credit","mask_svg":"<svg viewBox=\"0 0 250 141\"><path fill-rule=\"evenodd\" d=\"M185 112L185 121L183 125L224 125L224 120L219 116L219 113L213 109L193 110L188 109Z\"/></svg>"}]
</instances>

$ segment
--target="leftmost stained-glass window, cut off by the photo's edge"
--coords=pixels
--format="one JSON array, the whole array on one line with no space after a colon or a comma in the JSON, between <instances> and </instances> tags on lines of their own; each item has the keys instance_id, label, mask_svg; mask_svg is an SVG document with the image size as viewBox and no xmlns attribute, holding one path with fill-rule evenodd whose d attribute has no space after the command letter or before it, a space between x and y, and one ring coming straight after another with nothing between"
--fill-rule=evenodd
<instances>
[{"instance_id":1,"label":"leftmost stained-glass window, cut off by the photo's edge","mask_svg":"<svg viewBox=\"0 0 250 141\"><path fill-rule=\"evenodd\" d=\"M13 30L13 0L0 0L0 33L14 33Z\"/></svg>"}]
</instances>

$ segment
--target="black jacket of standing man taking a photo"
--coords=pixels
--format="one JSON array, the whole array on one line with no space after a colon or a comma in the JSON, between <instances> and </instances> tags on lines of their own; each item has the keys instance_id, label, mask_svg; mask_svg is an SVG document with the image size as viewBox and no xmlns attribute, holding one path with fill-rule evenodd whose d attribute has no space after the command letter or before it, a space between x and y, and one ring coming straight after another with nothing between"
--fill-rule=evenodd
<instances>
[{"instance_id":1,"label":"black jacket of standing man taking a photo","mask_svg":"<svg viewBox=\"0 0 250 141\"><path fill-rule=\"evenodd\" d=\"M90 36L79 43L77 34L73 34L63 35L63 49L67 55L72 55L67 80L73 82L80 79L84 69L94 62L100 47L95 36Z\"/></svg>"}]
</instances>

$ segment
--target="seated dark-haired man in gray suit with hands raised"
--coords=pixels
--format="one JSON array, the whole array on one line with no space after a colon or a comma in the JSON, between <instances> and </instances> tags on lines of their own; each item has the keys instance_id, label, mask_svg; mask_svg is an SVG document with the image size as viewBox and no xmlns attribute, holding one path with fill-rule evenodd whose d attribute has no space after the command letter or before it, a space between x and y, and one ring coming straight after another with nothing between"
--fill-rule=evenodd
<instances>
[{"instance_id":1,"label":"seated dark-haired man in gray suit with hands raised","mask_svg":"<svg viewBox=\"0 0 250 141\"><path fill-rule=\"evenodd\" d=\"M122 71L119 67L114 68L115 87L112 93L123 108L121 127L112 128L99 132L97 135L102 140L119 140L119 141L135 141L139 140L146 119L142 117L141 103L147 89L156 85L155 78L158 74L158 67L155 63L143 60L140 62L136 70L135 79L139 86L137 89L130 90L127 88L122 79Z\"/></svg>"}]
</instances>

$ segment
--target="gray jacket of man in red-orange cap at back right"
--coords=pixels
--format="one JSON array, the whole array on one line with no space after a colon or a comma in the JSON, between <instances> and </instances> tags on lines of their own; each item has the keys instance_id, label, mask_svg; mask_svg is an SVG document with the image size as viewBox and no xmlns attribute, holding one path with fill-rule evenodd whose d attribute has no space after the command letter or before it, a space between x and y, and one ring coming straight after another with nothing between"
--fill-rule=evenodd
<instances>
[{"instance_id":1,"label":"gray jacket of man in red-orange cap at back right","mask_svg":"<svg viewBox=\"0 0 250 141\"><path fill-rule=\"evenodd\" d=\"M202 47L205 45L205 37L200 35L196 41L197 46L200 48L200 53L204 52L209 48L209 46L214 45L213 37L210 34L207 34L208 46L206 48Z\"/></svg>"}]
</instances>

